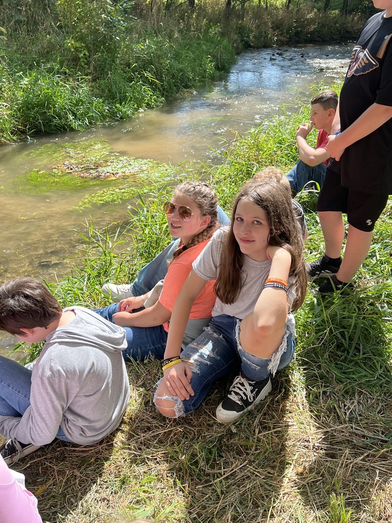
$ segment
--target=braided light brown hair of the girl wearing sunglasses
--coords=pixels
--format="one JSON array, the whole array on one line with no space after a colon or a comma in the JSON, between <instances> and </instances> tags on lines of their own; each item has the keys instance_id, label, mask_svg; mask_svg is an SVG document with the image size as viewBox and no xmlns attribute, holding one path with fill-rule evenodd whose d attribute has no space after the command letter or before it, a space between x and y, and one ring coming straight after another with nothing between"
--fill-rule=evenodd
<instances>
[{"instance_id":1,"label":"braided light brown hair of the girl wearing sunglasses","mask_svg":"<svg viewBox=\"0 0 392 523\"><path fill-rule=\"evenodd\" d=\"M182 245L176 249L171 260L168 261L168 265L178 258L178 256L183 251L185 251L185 249L189 249L190 247L193 247L194 245L211 238L218 223L218 211L216 209L218 200L216 198L214 189L206 182L184 181L182 184L177 185L173 196L174 198L177 196L185 196L189 200L194 201L197 204L201 215L211 216L211 220L203 231L192 236L186 245Z\"/></svg>"}]
</instances>

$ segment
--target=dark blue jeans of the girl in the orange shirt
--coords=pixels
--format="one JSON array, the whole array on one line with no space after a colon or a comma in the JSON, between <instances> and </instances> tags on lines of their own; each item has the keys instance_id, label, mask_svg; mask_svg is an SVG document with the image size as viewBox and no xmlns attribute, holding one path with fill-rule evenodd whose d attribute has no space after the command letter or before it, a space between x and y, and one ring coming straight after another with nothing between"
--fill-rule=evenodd
<instances>
[{"instance_id":1,"label":"dark blue jeans of the girl in the orange shirt","mask_svg":"<svg viewBox=\"0 0 392 523\"><path fill-rule=\"evenodd\" d=\"M113 322L113 314L118 312L119 304L112 303L103 309L93 309L94 312ZM130 313L132 314L132 313ZM149 355L164 359L167 332L162 325L156 327L123 327L128 347L122 351L125 361L144 361Z\"/></svg>"}]
</instances>

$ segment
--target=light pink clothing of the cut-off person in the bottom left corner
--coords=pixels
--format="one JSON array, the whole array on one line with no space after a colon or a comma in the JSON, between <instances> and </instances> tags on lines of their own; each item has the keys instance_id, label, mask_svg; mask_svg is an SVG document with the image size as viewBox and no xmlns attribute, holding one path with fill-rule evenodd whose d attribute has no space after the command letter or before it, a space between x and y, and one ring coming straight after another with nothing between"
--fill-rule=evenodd
<instances>
[{"instance_id":1,"label":"light pink clothing of the cut-off person in the bottom left corner","mask_svg":"<svg viewBox=\"0 0 392 523\"><path fill-rule=\"evenodd\" d=\"M0 523L42 523L37 504L0 456Z\"/></svg>"}]
</instances>

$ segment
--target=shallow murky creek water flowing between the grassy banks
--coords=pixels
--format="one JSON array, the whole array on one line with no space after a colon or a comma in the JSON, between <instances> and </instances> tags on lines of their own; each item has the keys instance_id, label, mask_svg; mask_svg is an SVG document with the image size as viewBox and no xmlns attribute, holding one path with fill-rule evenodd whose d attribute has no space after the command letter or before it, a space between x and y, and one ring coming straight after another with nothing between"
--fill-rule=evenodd
<instances>
[{"instance_id":1,"label":"shallow murky creek water flowing between the grassy banks","mask_svg":"<svg viewBox=\"0 0 392 523\"><path fill-rule=\"evenodd\" d=\"M221 81L171 99L160 109L84 132L45 135L1 146L0 281L19 276L60 279L75 263L67 257L77 254L81 246L75 229L84 231L90 220L96 228L103 228L122 217L126 219L127 202L83 213L71 210L83 197L80 190L52 192L49 196L9 190L7 184L18 175L53 166L49 158L38 160L37 147L95 138L105 140L114 152L125 156L174 165L185 162L184 167L190 160L219 162L214 150L234 138L233 131L245 133L258 126L282 104L309 100L309 86L339 81L350 50L351 46L344 44L248 50L239 55ZM9 337L3 336L0 351L9 345Z\"/></svg>"}]
</instances>

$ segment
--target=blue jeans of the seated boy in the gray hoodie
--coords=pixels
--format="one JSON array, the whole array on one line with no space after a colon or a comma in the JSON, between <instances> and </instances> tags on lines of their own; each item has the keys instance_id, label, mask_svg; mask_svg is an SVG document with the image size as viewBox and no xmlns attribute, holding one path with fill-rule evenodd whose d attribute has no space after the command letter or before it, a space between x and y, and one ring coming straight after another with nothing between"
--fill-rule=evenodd
<instances>
[{"instance_id":1,"label":"blue jeans of the seated boy in the gray hoodie","mask_svg":"<svg viewBox=\"0 0 392 523\"><path fill-rule=\"evenodd\" d=\"M0 356L0 416L20 418L30 406L31 372L17 361ZM61 427L56 438L71 441Z\"/></svg>"}]
</instances>

